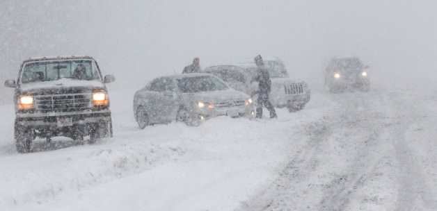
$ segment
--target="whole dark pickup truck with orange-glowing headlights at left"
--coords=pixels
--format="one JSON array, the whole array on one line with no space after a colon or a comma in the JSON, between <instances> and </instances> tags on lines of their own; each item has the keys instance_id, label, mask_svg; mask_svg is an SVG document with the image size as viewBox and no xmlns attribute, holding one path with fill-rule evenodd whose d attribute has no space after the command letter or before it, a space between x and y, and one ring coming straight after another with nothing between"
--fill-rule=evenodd
<instances>
[{"instance_id":1,"label":"whole dark pickup truck with orange-glowing headlights at left","mask_svg":"<svg viewBox=\"0 0 437 211\"><path fill-rule=\"evenodd\" d=\"M66 136L90 142L112 137L106 83L99 65L89 56L31 58L22 63L15 88L15 142L19 153L31 151L36 137Z\"/></svg>"}]
</instances>

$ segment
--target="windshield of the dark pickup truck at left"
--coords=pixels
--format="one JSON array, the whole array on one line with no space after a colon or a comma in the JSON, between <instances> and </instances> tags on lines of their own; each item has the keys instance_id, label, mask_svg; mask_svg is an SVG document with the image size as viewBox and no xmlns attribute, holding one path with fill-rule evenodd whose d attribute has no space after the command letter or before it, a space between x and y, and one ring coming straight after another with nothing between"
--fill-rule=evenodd
<instances>
[{"instance_id":1,"label":"windshield of the dark pickup truck at left","mask_svg":"<svg viewBox=\"0 0 437 211\"><path fill-rule=\"evenodd\" d=\"M93 81L100 80L100 74L92 60L31 62L24 65L21 82L57 81L61 78Z\"/></svg>"}]
</instances>

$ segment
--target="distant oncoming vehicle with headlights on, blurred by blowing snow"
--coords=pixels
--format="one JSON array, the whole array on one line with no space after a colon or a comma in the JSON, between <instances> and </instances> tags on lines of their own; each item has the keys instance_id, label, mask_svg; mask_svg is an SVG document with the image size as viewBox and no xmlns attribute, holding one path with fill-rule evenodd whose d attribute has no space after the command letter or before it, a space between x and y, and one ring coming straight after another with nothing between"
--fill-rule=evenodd
<instances>
[{"instance_id":1,"label":"distant oncoming vehicle with headlights on, blurred by blowing snow","mask_svg":"<svg viewBox=\"0 0 437 211\"><path fill-rule=\"evenodd\" d=\"M370 90L369 67L356 57L333 58L325 69L325 85L330 92Z\"/></svg>"}]
</instances>

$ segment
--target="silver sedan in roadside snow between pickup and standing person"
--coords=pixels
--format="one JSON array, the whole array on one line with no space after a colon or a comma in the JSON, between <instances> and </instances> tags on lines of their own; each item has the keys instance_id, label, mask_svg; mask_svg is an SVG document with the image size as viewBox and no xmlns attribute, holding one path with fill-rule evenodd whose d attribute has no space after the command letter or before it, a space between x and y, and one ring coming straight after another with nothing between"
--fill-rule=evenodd
<instances>
[{"instance_id":1,"label":"silver sedan in roadside snow between pickup and standing person","mask_svg":"<svg viewBox=\"0 0 437 211\"><path fill-rule=\"evenodd\" d=\"M156 78L134 95L134 115L140 128L171 121L198 126L212 117L252 117L254 113L250 96L211 74Z\"/></svg>"}]
</instances>

